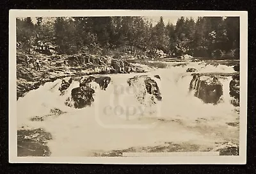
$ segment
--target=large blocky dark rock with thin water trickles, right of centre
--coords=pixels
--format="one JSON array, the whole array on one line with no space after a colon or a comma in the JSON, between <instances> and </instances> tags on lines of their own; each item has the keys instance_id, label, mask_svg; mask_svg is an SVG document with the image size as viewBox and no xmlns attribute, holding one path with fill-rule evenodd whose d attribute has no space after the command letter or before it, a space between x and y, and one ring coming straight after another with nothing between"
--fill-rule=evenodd
<instances>
[{"instance_id":1,"label":"large blocky dark rock with thin water trickles, right of centre","mask_svg":"<svg viewBox=\"0 0 256 174\"><path fill-rule=\"evenodd\" d=\"M223 95L223 86L215 76L193 74L193 79L189 84L189 91L191 90L195 91L195 97L211 104L218 104Z\"/></svg>"}]
</instances>

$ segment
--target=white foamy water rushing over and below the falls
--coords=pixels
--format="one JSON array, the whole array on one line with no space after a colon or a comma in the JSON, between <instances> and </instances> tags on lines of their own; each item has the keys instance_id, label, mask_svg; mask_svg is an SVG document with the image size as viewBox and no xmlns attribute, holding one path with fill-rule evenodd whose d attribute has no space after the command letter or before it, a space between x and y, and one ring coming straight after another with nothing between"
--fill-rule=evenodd
<instances>
[{"instance_id":1,"label":"white foamy water rushing over and below the falls","mask_svg":"<svg viewBox=\"0 0 256 174\"><path fill-rule=\"evenodd\" d=\"M106 91L95 90L92 106L75 109L65 106L71 90L79 86L73 82L60 95L61 79L29 91L17 101L18 130L43 128L52 134L48 146L52 156L88 156L93 152L122 150L136 146L157 146L165 142L192 143L216 148L216 142L239 142L239 130L228 122L236 122L238 114L230 104L231 77L220 79L223 84L222 102L204 104L188 92L192 79L187 68L199 72L234 72L225 65L198 65L157 69L146 74L156 79L163 99L156 104L146 95L140 103L138 90L129 87L127 79L142 74L113 74ZM34 116L49 115L51 109L65 112L48 116L43 122L31 122Z\"/></svg>"}]
</instances>

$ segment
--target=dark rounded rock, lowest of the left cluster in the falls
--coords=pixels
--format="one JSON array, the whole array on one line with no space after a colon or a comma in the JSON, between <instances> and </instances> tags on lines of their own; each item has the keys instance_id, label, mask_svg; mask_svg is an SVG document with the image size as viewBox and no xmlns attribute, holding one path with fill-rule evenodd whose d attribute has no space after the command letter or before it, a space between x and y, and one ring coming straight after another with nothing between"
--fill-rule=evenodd
<instances>
[{"instance_id":1,"label":"dark rounded rock, lowest of the left cluster in the falls","mask_svg":"<svg viewBox=\"0 0 256 174\"><path fill-rule=\"evenodd\" d=\"M70 107L83 108L91 106L95 91L87 86L80 86L71 91L71 99L68 98L65 104Z\"/></svg>"}]
</instances>

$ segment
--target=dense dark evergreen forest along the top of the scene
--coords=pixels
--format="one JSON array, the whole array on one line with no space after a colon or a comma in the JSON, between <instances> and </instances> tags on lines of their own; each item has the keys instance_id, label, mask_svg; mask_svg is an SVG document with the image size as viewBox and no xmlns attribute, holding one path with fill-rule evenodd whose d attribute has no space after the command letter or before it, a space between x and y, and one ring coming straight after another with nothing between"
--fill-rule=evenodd
<instances>
[{"instance_id":1,"label":"dense dark evergreen forest along the top of the scene","mask_svg":"<svg viewBox=\"0 0 256 174\"><path fill-rule=\"evenodd\" d=\"M49 43L58 54L108 52L127 46L169 56L239 58L239 17L180 17L156 25L145 17L17 18L17 43L24 48ZM21 46L20 46L21 47Z\"/></svg>"}]
</instances>

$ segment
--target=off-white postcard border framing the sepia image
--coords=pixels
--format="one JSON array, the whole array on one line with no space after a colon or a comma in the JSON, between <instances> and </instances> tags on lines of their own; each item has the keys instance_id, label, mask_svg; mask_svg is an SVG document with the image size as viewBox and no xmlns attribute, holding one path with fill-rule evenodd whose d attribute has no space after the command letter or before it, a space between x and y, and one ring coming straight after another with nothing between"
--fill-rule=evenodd
<instances>
[{"instance_id":1,"label":"off-white postcard border framing the sepia image","mask_svg":"<svg viewBox=\"0 0 256 174\"><path fill-rule=\"evenodd\" d=\"M237 156L184 157L17 157L16 17L64 16L236 16L240 17L240 143ZM9 162L83 164L246 164L248 12L188 10L10 10Z\"/></svg>"}]
</instances>

